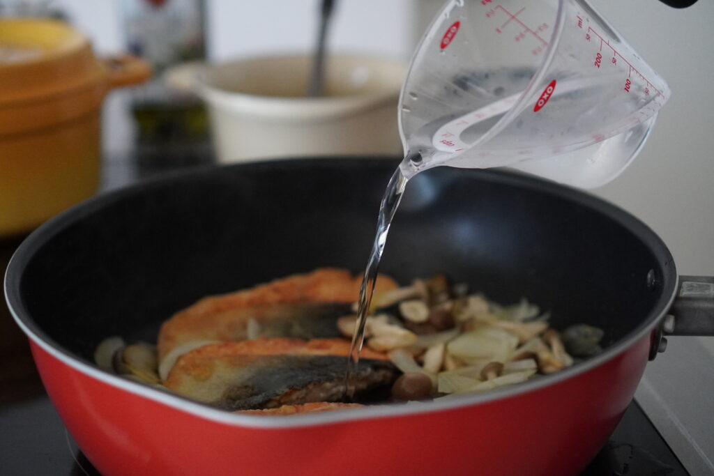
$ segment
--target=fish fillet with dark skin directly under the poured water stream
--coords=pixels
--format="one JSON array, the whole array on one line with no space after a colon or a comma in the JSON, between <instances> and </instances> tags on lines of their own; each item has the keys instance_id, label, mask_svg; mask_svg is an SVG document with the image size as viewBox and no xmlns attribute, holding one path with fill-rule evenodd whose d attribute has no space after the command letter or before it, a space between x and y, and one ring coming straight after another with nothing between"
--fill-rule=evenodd
<instances>
[{"instance_id":1,"label":"fish fillet with dark skin directly under the poured water stream","mask_svg":"<svg viewBox=\"0 0 714 476\"><path fill-rule=\"evenodd\" d=\"M349 343L261 338L216 343L181 356L164 385L224 410L335 402L344 393ZM383 353L366 350L356 373L356 395L391 385L399 375Z\"/></svg>"}]
</instances>

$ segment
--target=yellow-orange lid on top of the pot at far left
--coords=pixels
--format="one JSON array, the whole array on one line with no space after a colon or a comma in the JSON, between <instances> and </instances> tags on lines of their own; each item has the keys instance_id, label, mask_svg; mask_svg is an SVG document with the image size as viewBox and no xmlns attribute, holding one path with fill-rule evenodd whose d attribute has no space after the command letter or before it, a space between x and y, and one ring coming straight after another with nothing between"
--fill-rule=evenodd
<instances>
[{"instance_id":1,"label":"yellow-orange lid on top of the pot at far left","mask_svg":"<svg viewBox=\"0 0 714 476\"><path fill-rule=\"evenodd\" d=\"M89 41L68 24L0 19L0 107L85 87L103 71Z\"/></svg>"}]
</instances>

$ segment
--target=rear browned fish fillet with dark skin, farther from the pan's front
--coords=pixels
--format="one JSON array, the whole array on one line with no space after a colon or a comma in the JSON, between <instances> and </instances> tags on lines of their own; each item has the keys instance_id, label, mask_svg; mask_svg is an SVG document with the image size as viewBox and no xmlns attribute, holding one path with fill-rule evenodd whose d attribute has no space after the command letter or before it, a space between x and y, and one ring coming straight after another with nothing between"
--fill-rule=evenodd
<instances>
[{"instance_id":1,"label":"rear browned fish fillet with dark skin, farther from the pan's front","mask_svg":"<svg viewBox=\"0 0 714 476\"><path fill-rule=\"evenodd\" d=\"M261 325L261 336L265 337L337 337L336 319L351 313L349 304L357 300L360 283L361 278L347 270L320 268L255 288L203 298L161 325L159 360L177 345L190 341L244 340L251 318ZM376 293L396 287L394 280L380 275ZM296 322L290 323L291 320Z\"/></svg>"}]
</instances>

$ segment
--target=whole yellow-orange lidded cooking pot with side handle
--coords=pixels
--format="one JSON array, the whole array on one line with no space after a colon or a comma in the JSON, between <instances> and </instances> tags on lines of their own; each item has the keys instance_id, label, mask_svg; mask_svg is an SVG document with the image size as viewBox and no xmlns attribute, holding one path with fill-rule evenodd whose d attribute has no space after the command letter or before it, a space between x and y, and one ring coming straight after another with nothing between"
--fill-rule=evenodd
<instances>
[{"instance_id":1,"label":"whole yellow-orange lidded cooking pot with side handle","mask_svg":"<svg viewBox=\"0 0 714 476\"><path fill-rule=\"evenodd\" d=\"M104 96L150 75L141 59L97 59L60 21L0 19L0 236L96 192Z\"/></svg>"}]
</instances>

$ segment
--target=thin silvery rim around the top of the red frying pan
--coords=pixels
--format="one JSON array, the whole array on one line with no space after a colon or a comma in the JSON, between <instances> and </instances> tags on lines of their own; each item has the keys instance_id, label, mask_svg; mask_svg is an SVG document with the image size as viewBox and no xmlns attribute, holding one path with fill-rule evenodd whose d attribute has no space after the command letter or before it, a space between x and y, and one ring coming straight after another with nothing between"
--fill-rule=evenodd
<instances>
[{"instance_id":1,"label":"thin silvery rim around the top of the red frying pan","mask_svg":"<svg viewBox=\"0 0 714 476\"><path fill-rule=\"evenodd\" d=\"M518 397L526 393L531 393L542 388L549 387L550 385L555 385L563 380L567 380L586 373L594 368L603 365L604 363L617 358L618 355L624 353L632 345L634 345L639 340L645 338L655 326L658 324L660 319L665 315L666 311L670 308L674 298L675 290L678 281L678 275L675 269L675 263L670 254L670 251L666 247L663 240L657 236L645 223L641 222L638 218L635 218L630 213L623 211L623 209L609 203L595 196L591 196L589 193L583 191L578 191L573 188L568 188L565 186L560 186L555 183L544 181L539 178L534 178L530 176L524 176L520 173L505 173L503 171L478 171L478 173L483 174L492 183L506 183L511 185L518 185L519 187L525 187L528 189L535 189L535 191L540 191L542 193L548 193L550 195L558 196L558 198L563 198L573 203L578 203L580 206L585 206L587 208L594 209L599 213L604 213L608 218L613 219L620 224L620 226L625 227L631 233L634 233L638 239L642 240L648 249L657 254L660 258L660 262L663 261L665 265L668 265L669 272L663 273L663 290L660 296L655 301L653 309L650 310L648 316L643 318L641 322L634 330L632 330L628 335L625 335L614 345L608 347L603 353L585 360L583 363L578 363L571 368L565 370L560 370L560 372L547 375L544 378L539 378L535 380L530 380L526 383L521 383L519 385L514 385L511 387L491 390L487 393L479 393L473 395L463 395L458 397L451 397L445 400L438 400L435 402L410 402L407 405L403 404L387 404L387 405L376 405L369 406L358 409L351 410L338 410L335 412L320 412L307 415L290 415L289 417L280 415L243 415L231 412L226 412L225 410L218 410L198 402L193 402L185 397L179 395L174 395L171 393L164 393L161 390L149 388L146 385L139 383L134 383L131 380L121 378L119 375L111 375L106 373L104 370L99 370L89 363L86 363L83 359L74 355L71 351L62 348L61 345L54 342L49 335L45 335L44 331L41 330L39 325L34 323L31 318L29 311L24 307L24 303L20 298L19 293L19 283L21 278L21 270L24 269L24 265L29 262L29 259L34 252L44 245L49 239L54 236L58 231L64 229L65 226L74 221L78 220L86 214L96 211L96 209L105 206L107 203L114 203L114 201L119 201L126 195L131 195L139 190L146 190L146 188L155 188L166 186L170 183L180 182L183 180L191 180L191 178L197 176L198 174L211 175L219 173L219 171L226 168L246 168L248 170L254 169L259 170L260 168L275 168L276 166L298 166L303 167L309 165L313 166L328 166L335 167L337 164L344 166L345 163L351 163L351 166L359 166L364 168L366 166L376 166L378 168L384 168L385 163L391 163L384 160L366 161L365 158L357 157L341 157L341 158L286 158L278 159L272 161L262 161L256 163L241 163L233 164L230 166L204 166L200 169L194 168L188 171L178 171L175 173L166 174L159 178L154 178L148 181L138 183L134 186L129 186L122 188L118 191L109 192L105 195L97 196L90 199L84 203L81 203L68 211L59 214L52 218L47 223L37 228L36 231L31 233L31 235L24 240L23 243L17 248L14 255L12 256L8 268L5 273L5 283L4 283L4 293L6 295L6 302L8 304L11 315L13 316L16 323L19 325L21 330L35 343L39 345L46 353L49 353L53 358L61 361L64 365L83 373L84 375L93 378L94 380L99 380L102 383L109 384L114 388L129 392L140 397L147 398L149 400L154 400L155 402L167 405L179 410L181 412L186 412L190 415L196 417L202 417L206 420L211 420L214 422L220 422L225 425L231 425L236 427L255 427L263 429L282 429L282 428L295 428L295 427L311 427L317 425L334 425L343 422L350 422L353 420L371 420L376 418L386 418L386 417L403 417L406 415L416 415L431 412L441 412L448 410L455 410L461 407L468 407L473 405L482 405L494 400L503 400L511 397ZM393 166L396 168L398 162L394 161Z\"/></svg>"}]
</instances>

